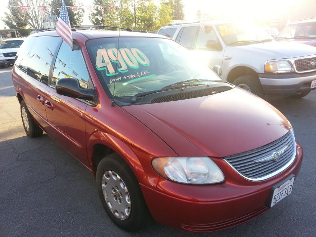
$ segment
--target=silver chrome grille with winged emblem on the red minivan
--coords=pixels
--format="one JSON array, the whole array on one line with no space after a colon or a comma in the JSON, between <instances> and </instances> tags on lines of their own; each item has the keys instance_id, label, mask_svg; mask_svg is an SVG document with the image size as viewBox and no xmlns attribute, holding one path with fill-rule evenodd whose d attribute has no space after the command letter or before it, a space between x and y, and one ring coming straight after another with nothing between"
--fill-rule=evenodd
<instances>
[{"instance_id":1,"label":"silver chrome grille with winged emblem on the red minivan","mask_svg":"<svg viewBox=\"0 0 316 237\"><path fill-rule=\"evenodd\" d=\"M277 160L271 157L274 152L285 151ZM292 131L289 131L276 141L260 148L224 157L224 159L242 176L250 180L263 180L284 170L294 160L296 154L295 139ZM264 160L264 161L260 161Z\"/></svg>"}]
</instances>

